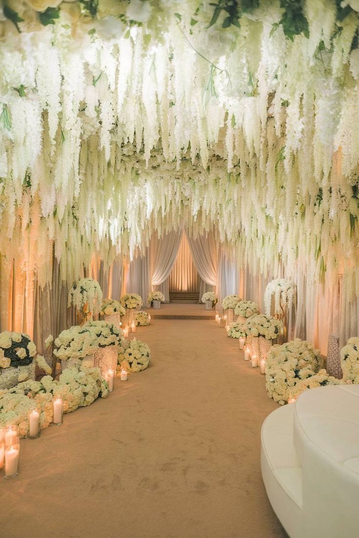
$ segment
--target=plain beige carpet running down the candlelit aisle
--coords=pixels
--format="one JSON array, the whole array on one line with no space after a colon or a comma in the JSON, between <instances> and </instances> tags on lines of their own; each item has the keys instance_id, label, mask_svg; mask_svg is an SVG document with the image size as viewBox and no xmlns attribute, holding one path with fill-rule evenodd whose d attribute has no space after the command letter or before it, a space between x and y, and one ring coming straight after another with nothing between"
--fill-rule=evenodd
<instances>
[{"instance_id":1,"label":"plain beige carpet running down the candlelit aisle","mask_svg":"<svg viewBox=\"0 0 359 538\"><path fill-rule=\"evenodd\" d=\"M260 429L264 376L209 320L154 320L136 334L152 365L107 399L22 440L0 475L1 538L280 538Z\"/></svg>"}]
</instances>

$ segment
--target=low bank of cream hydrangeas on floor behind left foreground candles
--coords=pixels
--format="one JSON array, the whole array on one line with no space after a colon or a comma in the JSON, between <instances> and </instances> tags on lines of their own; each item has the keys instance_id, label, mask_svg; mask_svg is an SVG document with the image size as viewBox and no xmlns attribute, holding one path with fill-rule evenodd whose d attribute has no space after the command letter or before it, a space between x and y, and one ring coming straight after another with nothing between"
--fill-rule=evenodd
<instances>
[{"instance_id":1,"label":"low bank of cream hydrangeas on floor behind left foreground candles","mask_svg":"<svg viewBox=\"0 0 359 538\"><path fill-rule=\"evenodd\" d=\"M40 410L40 427L47 428L52 421L53 398L64 401L64 413L88 406L98 398L108 395L108 386L98 368L69 368L59 380L45 376L40 381L28 380L9 390L0 391L0 426L15 424L20 436L29 434L29 410Z\"/></svg>"}]
</instances>

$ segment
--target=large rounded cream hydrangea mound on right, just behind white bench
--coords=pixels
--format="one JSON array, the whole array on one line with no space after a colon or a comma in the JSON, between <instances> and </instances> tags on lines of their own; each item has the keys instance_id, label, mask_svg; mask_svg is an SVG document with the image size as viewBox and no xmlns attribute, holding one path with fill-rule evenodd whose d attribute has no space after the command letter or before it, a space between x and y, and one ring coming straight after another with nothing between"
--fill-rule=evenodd
<instances>
[{"instance_id":1,"label":"large rounded cream hydrangea mound on right, just behind white bench","mask_svg":"<svg viewBox=\"0 0 359 538\"><path fill-rule=\"evenodd\" d=\"M283 405L293 396L293 387L301 379L314 376L322 366L322 357L312 344L295 338L273 345L266 362L266 390L270 398Z\"/></svg>"}]
</instances>

